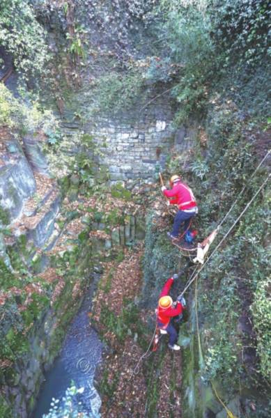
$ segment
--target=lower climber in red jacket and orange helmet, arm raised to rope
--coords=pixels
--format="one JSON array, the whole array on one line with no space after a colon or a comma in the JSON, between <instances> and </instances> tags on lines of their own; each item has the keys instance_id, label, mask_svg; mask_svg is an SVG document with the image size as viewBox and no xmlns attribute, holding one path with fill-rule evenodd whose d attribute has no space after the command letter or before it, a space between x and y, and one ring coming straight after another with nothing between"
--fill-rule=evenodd
<instances>
[{"instance_id":1,"label":"lower climber in red jacket and orange helmet, arm raised to rope","mask_svg":"<svg viewBox=\"0 0 271 418\"><path fill-rule=\"evenodd\" d=\"M180 297L180 300L178 298L176 302L173 302L169 296L169 291L175 279L178 279L178 274L173 274L173 277L168 279L166 284L164 284L160 293L156 314L157 327L160 329L161 334L169 334L169 348L171 350L180 350L180 346L176 344L178 334L173 324L171 324L171 318L183 313L185 299Z\"/></svg>"}]
</instances>

